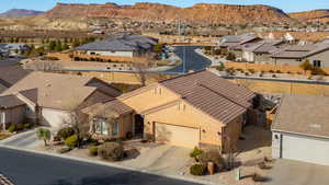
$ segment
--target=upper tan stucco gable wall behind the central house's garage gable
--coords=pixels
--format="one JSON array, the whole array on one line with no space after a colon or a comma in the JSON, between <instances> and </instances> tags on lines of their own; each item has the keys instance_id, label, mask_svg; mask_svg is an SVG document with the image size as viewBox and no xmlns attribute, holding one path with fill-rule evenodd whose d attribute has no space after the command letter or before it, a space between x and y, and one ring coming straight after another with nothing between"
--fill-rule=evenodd
<instances>
[{"instance_id":1,"label":"upper tan stucco gable wall behind the central house's garage gable","mask_svg":"<svg viewBox=\"0 0 329 185\"><path fill-rule=\"evenodd\" d=\"M179 99L179 95L158 84L137 90L134 93L132 96L118 99L134 108L137 114Z\"/></svg>"}]
</instances>

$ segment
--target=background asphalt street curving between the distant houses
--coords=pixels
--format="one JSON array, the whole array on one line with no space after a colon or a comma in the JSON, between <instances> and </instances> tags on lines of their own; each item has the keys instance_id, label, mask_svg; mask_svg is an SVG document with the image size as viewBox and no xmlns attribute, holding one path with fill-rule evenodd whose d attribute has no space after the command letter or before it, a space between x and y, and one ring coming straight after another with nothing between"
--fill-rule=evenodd
<instances>
[{"instance_id":1,"label":"background asphalt street curving between the distant houses","mask_svg":"<svg viewBox=\"0 0 329 185\"><path fill-rule=\"evenodd\" d=\"M168 73L186 73L190 70L200 71L212 65L212 61L197 53L200 46L175 46L175 55L182 59L182 63L169 69L164 72Z\"/></svg>"}]
</instances>

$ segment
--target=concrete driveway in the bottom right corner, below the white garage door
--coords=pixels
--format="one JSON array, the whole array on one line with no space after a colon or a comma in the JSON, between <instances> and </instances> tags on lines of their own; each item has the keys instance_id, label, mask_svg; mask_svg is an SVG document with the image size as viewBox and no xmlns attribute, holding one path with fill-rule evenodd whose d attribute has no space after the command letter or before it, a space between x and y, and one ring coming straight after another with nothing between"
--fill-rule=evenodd
<instances>
[{"instance_id":1,"label":"concrete driveway in the bottom right corner, below the white garage door","mask_svg":"<svg viewBox=\"0 0 329 185\"><path fill-rule=\"evenodd\" d=\"M264 185L328 185L329 166L279 160Z\"/></svg>"}]
</instances>

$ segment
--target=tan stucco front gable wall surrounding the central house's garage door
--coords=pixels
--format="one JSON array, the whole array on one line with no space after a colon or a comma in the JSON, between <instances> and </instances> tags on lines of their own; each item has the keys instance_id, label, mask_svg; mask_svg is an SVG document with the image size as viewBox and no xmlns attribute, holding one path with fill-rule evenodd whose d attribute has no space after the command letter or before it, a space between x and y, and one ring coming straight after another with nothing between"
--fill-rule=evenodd
<instances>
[{"instance_id":1,"label":"tan stucco front gable wall surrounding the central house's garage door","mask_svg":"<svg viewBox=\"0 0 329 185\"><path fill-rule=\"evenodd\" d=\"M222 124L211 116L194 108L184 101L173 106L145 115L145 134L154 135L152 123L164 123L178 126L198 128L201 130L200 142L208 144L222 144L218 131L222 131ZM189 136L181 136L189 137Z\"/></svg>"}]
</instances>

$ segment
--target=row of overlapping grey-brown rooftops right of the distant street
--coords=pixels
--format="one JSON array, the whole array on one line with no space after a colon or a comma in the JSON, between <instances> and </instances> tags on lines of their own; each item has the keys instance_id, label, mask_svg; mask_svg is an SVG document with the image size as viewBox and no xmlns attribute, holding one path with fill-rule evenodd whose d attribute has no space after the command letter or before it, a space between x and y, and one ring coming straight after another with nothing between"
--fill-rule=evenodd
<instances>
[{"instance_id":1,"label":"row of overlapping grey-brown rooftops right of the distant street","mask_svg":"<svg viewBox=\"0 0 329 185\"><path fill-rule=\"evenodd\" d=\"M309 45L288 45L282 39L263 39L257 34L228 35L219 41L220 47L234 50L247 50L254 54L270 54L272 58L302 59L329 49L329 39Z\"/></svg>"}]
</instances>

